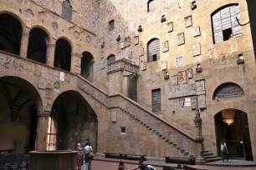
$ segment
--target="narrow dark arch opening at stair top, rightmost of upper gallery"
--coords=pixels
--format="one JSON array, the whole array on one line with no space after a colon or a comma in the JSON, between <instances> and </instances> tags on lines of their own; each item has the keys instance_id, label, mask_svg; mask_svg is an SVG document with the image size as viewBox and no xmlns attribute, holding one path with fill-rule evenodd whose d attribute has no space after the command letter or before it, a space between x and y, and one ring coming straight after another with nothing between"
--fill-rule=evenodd
<instances>
[{"instance_id":1,"label":"narrow dark arch opening at stair top, rightmost of upper gallery","mask_svg":"<svg viewBox=\"0 0 256 170\"><path fill-rule=\"evenodd\" d=\"M82 53L81 76L93 82L94 80L94 57L90 52Z\"/></svg>"}]
</instances>

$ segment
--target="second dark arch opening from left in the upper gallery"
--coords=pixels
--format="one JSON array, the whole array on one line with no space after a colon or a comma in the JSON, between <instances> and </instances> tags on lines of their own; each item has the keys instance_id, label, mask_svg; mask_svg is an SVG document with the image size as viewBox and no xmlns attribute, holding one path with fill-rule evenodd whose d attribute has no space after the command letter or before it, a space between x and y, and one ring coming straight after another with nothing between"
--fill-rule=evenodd
<instances>
[{"instance_id":1,"label":"second dark arch opening from left in the upper gallery","mask_svg":"<svg viewBox=\"0 0 256 170\"><path fill-rule=\"evenodd\" d=\"M29 32L27 57L37 62L46 63L49 36L43 29L33 28Z\"/></svg>"}]
</instances>

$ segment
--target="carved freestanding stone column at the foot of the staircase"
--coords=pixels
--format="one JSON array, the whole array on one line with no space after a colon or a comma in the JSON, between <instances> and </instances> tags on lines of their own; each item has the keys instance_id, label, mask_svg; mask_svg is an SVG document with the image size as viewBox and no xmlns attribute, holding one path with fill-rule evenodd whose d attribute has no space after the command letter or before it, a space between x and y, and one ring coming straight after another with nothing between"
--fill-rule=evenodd
<instances>
[{"instance_id":1,"label":"carved freestanding stone column at the foot of the staircase","mask_svg":"<svg viewBox=\"0 0 256 170\"><path fill-rule=\"evenodd\" d=\"M194 118L195 127L197 128L197 158L196 164L197 165L204 165L206 164L206 160L204 158L204 145L203 145L203 138L202 138L202 118L200 117L200 112L197 110L196 117Z\"/></svg>"}]
</instances>

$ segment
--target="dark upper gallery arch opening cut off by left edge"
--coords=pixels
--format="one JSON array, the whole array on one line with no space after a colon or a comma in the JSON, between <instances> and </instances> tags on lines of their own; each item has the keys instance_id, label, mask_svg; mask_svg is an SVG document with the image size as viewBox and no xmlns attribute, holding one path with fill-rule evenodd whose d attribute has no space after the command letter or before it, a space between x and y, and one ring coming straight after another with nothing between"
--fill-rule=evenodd
<instances>
[{"instance_id":1,"label":"dark upper gallery arch opening cut off by left edge","mask_svg":"<svg viewBox=\"0 0 256 170\"><path fill-rule=\"evenodd\" d=\"M19 55L22 25L12 15L0 14L0 49Z\"/></svg>"}]
</instances>

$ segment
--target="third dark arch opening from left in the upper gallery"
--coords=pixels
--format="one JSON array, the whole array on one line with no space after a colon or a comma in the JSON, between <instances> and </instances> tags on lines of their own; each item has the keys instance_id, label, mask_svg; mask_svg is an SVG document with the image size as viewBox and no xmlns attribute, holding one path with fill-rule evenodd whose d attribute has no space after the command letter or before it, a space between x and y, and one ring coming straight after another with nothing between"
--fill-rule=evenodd
<instances>
[{"instance_id":1,"label":"third dark arch opening from left in the upper gallery","mask_svg":"<svg viewBox=\"0 0 256 170\"><path fill-rule=\"evenodd\" d=\"M54 67L70 72L71 66L71 45L63 38L56 42Z\"/></svg>"}]
</instances>

